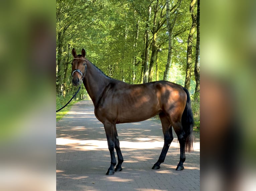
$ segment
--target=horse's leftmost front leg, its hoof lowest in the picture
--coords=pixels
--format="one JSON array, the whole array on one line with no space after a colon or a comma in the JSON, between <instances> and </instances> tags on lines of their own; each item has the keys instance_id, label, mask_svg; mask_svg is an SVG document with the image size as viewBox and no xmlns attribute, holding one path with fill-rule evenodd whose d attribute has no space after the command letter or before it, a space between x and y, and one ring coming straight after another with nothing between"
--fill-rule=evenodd
<instances>
[{"instance_id":1,"label":"horse's leftmost front leg, its hoof lowest in the picture","mask_svg":"<svg viewBox=\"0 0 256 191\"><path fill-rule=\"evenodd\" d=\"M115 157L115 150L114 150L115 149L114 127L115 127L115 124L113 123L110 123L110 122L104 123L104 128L105 128L107 141L108 141L108 149L111 157L111 165L106 175L115 174L114 167L116 165L116 157Z\"/></svg>"}]
</instances>

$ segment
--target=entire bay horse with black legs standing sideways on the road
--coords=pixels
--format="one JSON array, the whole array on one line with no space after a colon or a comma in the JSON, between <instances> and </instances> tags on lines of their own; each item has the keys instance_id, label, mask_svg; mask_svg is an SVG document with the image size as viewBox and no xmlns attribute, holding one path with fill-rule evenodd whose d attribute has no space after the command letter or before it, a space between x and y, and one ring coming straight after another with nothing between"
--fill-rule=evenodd
<instances>
[{"instance_id":1,"label":"entire bay horse with black legs standing sideways on the road","mask_svg":"<svg viewBox=\"0 0 256 191\"><path fill-rule=\"evenodd\" d=\"M72 50L72 83L83 82L94 104L94 113L104 125L111 156L106 175L122 170L124 161L120 150L116 124L138 122L159 115L164 135L164 145L158 161L152 169L159 169L173 140L172 128L180 144L180 160L176 170L183 170L185 150L193 149L193 113L187 89L168 81L130 85L107 77L92 64L82 49L82 55ZM83 71L83 72L82 72ZM115 152L118 163L116 165Z\"/></svg>"}]
</instances>

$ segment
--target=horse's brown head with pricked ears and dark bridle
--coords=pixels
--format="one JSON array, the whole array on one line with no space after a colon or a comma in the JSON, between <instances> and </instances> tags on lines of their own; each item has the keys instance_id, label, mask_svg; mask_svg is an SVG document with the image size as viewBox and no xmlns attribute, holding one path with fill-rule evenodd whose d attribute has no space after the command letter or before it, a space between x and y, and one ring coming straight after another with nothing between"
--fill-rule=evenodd
<instances>
[{"instance_id":1,"label":"horse's brown head with pricked ears and dark bridle","mask_svg":"<svg viewBox=\"0 0 256 191\"><path fill-rule=\"evenodd\" d=\"M72 83L74 86L78 86L82 83L87 72L87 60L85 58L85 49L82 49L82 55L77 55L75 49L72 49L74 59L72 61Z\"/></svg>"}]
</instances>

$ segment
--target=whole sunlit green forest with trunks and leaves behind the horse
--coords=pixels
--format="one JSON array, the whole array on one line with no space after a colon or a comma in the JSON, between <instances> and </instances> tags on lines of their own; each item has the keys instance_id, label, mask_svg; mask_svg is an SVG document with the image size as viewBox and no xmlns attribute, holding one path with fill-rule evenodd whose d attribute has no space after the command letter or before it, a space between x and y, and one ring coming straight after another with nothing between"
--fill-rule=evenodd
<instances>
[{"instance_id":1,"label":"whole sunlit green forest with trunks and leaves behind the horse","mask_svg":"<svg viewBox=\"0 0 256 191\"><path fill-rule=\"evenodd\" d=\"M200 0L56 0L56 107L77 90L73 48L111 78L184 86L200 126Z\"/></svg>"}]
</instances>

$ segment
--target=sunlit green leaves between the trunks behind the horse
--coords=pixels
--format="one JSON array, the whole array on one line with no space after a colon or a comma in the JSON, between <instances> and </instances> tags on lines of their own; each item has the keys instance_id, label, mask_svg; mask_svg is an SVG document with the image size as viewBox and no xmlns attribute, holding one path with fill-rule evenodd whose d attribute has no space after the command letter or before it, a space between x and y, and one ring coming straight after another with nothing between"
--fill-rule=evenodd
<instances>
[{"instance_id":1,"label":"sunlit green leaves between the trunks behind the horse","mask_svg":"<svg viewBox=\"0 0 256 191\"><path fill-rule=\"evenodd\" d=\"M61 60L61 73L56 83L66 89L66 97L74 95L71 81L71 65L73 56L72 48L80 53L82 48L86 50L86 57L111 78L127 83L139 83L143 52L145 52L145 27L148 7L151 6L151 18L148 23L150 31L153 30L154 10L157 1L150 0L65 0L56 1L56 77L58 79L58 58ZM175 6L178 0L171 2ZM169 81L184 86L186 72L187 37L191 27L191 15L189 13L190 0L182 0L177 10L179 16L173 31L173 56ZM157 22L164 21L166 9L165 1L159 1ZM171 12L170 19L176 12ZM161 18L162 15L162 18ZM162 19L162 20L161 20ZM136 40L136 25L138 27L138 39ZM150 32L150 39L152 33ZM136 42L136 46L135 46ZM152 42L152 40L151 40ZM196 45L196 40L193 46ZM159 52L159 80L163 79L167 55L168 33L166 22L157 33L156 46L163 50ZM61 55L59 51L61 49ZM152 48L150 47L149 55ZM81 54L81 53L80 53ZM192 54L195 60L195 51ZM134 65L134 58L136 63ZM135 73L135 81L132 82L132 72ZM154 76L155 79L155 69ZM65 79L65 74L66 79ZM193 76L193 75L192 75ZM62 90L63 90L62 89ZM195 79L192 77L190 94L194 94ZM60 97L63 92L59 94ZM65 95L65 94L64 94ZM81 89L77 99L84 98L86 90ZM57 98L57 99L60 99ZM65 101L64 101L65 102ZM194 108L199 109L199 103ZM195 113L197 111L195 110ZM198 114L199 115L199 114ZM196 118L199 116L196 116ZM200 120L198 120L200 122Z\"/></svg>"}]
</instances>

